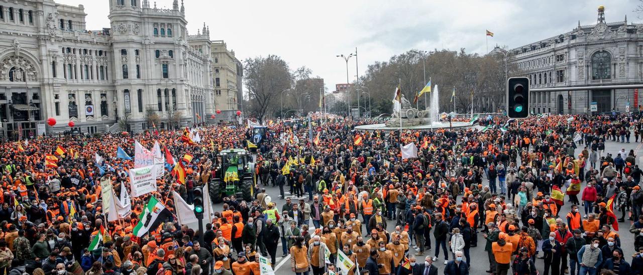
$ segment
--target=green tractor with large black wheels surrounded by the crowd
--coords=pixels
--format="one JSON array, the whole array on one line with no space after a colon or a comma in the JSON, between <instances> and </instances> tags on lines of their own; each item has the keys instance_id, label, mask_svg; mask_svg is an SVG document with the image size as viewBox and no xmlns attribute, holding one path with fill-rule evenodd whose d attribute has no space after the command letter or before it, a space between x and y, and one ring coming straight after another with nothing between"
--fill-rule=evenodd
<instances>
[{"instance_id":1,"label":"green tractor with large black wheels surrounded by the crowd","mask_svg":"<svg viewBox=\"0 0 643 275\"><path fill-rule=\"evenodd\" d=\"M223 197L236 195L237 199L250 202L254 197L253 173L255 164L244 149L228 149L219 152L217 172L210 184L212 202L221 202Z\"/></svg>"}]
</instances>

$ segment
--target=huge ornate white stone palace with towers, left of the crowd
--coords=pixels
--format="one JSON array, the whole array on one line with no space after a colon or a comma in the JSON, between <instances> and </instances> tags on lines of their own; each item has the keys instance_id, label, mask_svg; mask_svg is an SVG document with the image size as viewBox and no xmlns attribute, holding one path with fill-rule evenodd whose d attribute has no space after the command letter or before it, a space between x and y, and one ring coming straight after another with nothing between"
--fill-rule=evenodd
<instances>
[{"instance_id":1,"label":"huge ornate white stone palace with towers, left of the crowd","mask_svg":"<svg viewBox=\"0 0 643 275\"><path fill-rule=\"evenodd\" d=\"M70 129L69 121L86 133L114 132L119 125L140 131L152 127L146 120L152 113L160 117L158 128L214 121L208 28L188 35L183 1L174 0L172 8L107 1L111 26L102 30L86 30L82 5L0 3L5 136L61 132ZM57 124L46 126L48 118Z\"/></svg>"}]
</instances>

